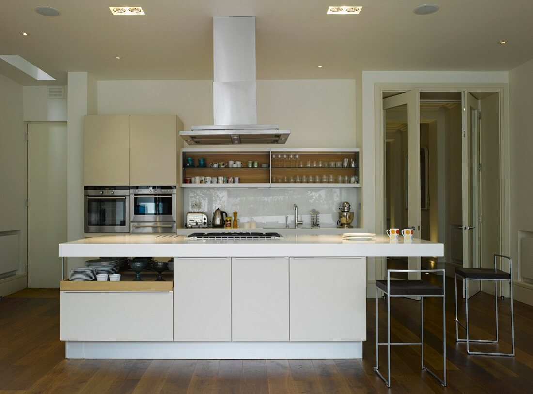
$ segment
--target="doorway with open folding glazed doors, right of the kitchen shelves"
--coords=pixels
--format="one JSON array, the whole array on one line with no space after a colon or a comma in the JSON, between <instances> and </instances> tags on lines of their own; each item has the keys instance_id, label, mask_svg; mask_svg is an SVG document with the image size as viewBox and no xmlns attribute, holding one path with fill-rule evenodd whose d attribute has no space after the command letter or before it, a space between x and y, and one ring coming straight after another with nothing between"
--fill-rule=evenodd
<instances>
[{"instance_id":1,"label":"doorway with open folding glazed doors, right of the kitchen shelves","mask_svg":"<svg viewBox=\"0 0 533 394\"><path fill-rule=\"evenodd\" d=\"M391 257L387 269L490 266L500 245L498 92L383 92L383 112L385 228L415 227L416 238L445 244L443 257Z\"/></svg>"}]
</instances>

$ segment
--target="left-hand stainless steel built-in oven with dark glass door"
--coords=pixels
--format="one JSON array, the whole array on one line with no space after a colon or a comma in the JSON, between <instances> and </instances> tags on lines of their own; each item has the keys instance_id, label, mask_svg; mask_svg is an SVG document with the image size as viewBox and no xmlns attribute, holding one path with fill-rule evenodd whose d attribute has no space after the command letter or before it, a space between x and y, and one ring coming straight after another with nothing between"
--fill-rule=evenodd
<instances>
[{"instance_id":1,"label":"left-hand stainless steel built-in oven with dark glass door","mask_svg":"<svg viewBox=\"0 0 533 394\"><path fill-rule=\"evenodd\" d=\"M85 186L85 232L130 232L130 186Z\"/></svg>"}]
</instances>

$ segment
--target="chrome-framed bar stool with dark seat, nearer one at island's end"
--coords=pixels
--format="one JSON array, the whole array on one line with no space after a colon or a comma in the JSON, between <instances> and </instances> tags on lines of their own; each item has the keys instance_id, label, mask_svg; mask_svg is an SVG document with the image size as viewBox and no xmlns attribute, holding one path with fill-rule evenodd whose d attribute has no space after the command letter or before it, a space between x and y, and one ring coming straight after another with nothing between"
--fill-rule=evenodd
<instances>
[{"instance_id":1,"label":"chrome-framed bar stool with dark seat, nearer one at island's end","mask_svg":"<svg viewBox=\"0 0 533 394\"><path fill-rule=\"evenodd\" d=\"M416 294L416 289L412 294L391 295L391 272L440 272L442 273L442 295L422 295ZM393 280L396 282L397 280ZM400 282L402 280L398 280ZM416 280L422 281L422 280ZM430 284L431 285L431 284ZM431 285L434 286L434 285ZM435 286L437 287L437 286ZM379 342L379 314L378 314L378 300L379 288L376 286L376 366L374 371L381 377L387 387L391 387L391 345L421 345L421 368L432 375L443 387L446 387L446 270L387 270L387 291L381 289L387 295L387 342ZM440 287L439 287L440 288ZM391 342L391 298L392 297L421 297L421 338L420 342ZM425 297L441 297L442 298L442 363L443 363L443 379L440 379L431 369L424 365L424 298ZM387 379L379 371L379 346L387 346Z\"/></svg>"}]
</instances>

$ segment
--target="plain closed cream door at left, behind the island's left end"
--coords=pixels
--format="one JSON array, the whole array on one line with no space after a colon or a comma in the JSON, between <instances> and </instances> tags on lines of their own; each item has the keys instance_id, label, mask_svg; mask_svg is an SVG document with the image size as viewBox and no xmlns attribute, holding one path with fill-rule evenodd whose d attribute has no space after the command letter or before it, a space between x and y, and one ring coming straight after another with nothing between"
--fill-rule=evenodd
<instances>
[{"instance_id":1,"label":"plain closed cream door at left, behind the island's left end","mask_svg":"<svg viewBox=\"0 0 533 394\"><path fill-rule=\"evenodd\" d=\"M28 287L59 287L67 241L67 124L28 123Z\"/></svg>"}]
</instances>

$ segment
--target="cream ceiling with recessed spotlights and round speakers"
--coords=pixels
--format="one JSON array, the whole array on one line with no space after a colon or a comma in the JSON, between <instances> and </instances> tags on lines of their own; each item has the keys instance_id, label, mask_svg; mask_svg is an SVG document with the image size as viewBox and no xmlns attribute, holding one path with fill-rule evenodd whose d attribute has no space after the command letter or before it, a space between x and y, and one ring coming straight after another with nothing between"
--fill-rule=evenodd
<instances>
[{"instance_id":1,"label":"cream ceiling with recessed spotlights and round speakers","mask_svg":"<svg viewBox=\"0 0 533 394\"><path fill-rule=\"evenodd\" d=\"M212 17L252 15L258 79L352 78L358 70L509 70L533 57L531 0L434 0L440 11L431 15L413 13L425 0L336 1L2 0L0 54L22 56L58 78L52 84L66 83L69 71L99 80L211 79ZM115 16L108 9L125 4L142 6L146 15ZM37 5L56 7L61 15L39 15ZM328 5L363 9L326 15ZM0 73L22 84L44 84L0 63Z\"/></svg>"}]
</instances>

